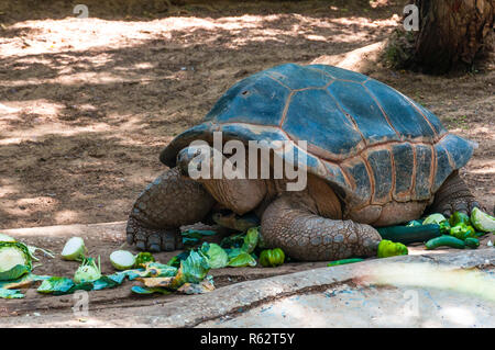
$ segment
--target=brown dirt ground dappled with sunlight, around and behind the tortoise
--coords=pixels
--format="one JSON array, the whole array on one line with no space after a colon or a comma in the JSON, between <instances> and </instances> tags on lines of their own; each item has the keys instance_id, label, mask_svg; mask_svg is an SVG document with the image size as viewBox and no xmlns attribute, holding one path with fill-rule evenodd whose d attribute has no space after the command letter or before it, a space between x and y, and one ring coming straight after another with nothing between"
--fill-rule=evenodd
<instances>
[{"instance_id":1,"label":"brown dirt ground dappled with sunlight, around and behind the tortoise","mask_svg":"<svg viewBox=\"0 0 495 350\"><path fill-rule=\"evenodd\" d=\"M233 82L382 42L398 25L404 1L205 1L170 11L161 1L148 8L132 0L84 2L88 19L76 19L69 1L0 2L0 229L125 221L138 194L165 170L161 149ZM363 72L480 144L462 176L493 208L494 65L451 77L381 64ZM65 239L31 235L28 242L58 252ZM91 255L108 257L122 240L122 232L110 232L87 244ZM162 261L172 257L162 255ZM38 274L72 275L77 268L67 262L54 271L43 262ZM216 283L322 266L219 270ZM103 272L112 272L108 261ZM106 307L156 302L135 300L128 287L96 295ZM30 290L22 303L7 303L0 314L22 315L67 308L72 298Z\"/></svg>"}]
</instances>

